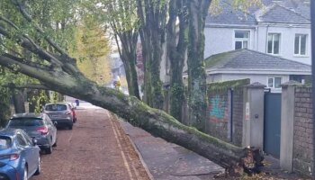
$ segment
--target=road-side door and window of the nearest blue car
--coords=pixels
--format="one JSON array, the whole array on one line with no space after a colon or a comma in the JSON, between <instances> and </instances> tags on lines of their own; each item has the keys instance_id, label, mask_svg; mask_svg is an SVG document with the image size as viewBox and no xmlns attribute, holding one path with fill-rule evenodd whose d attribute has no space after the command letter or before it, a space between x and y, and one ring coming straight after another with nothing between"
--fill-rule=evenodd
<instances>
[{"instance_id":1,"label":"road-side door and window of the nearest blue car","mask_svg":"<svg viewBox=\"0 0 315 180\"><path fill-rule=\"evenodd\" d=\"M37 168L38 159L34 159L36 156L34 148L32 148L32 144L30 144L24 137L24 135L19 132L16 134L16 140L18 142L19 148L21 148L21 156L24 157L26 163L28 164L28 173L34 171L34 168Z\"/></svg>"}]
</instances>

